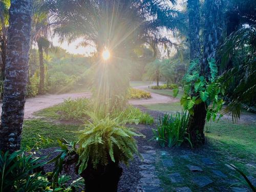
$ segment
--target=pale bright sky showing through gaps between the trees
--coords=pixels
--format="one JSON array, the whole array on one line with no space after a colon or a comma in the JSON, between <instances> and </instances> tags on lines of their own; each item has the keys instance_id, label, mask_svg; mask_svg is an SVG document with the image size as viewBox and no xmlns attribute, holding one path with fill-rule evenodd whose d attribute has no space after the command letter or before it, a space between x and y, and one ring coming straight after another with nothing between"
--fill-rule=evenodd
<instances>
[{"instance_id":1,"label":"pale bright sky showing through gaps between the trees","mask_svg":"<svg viewBox=\"0 0 256 192\"><path fill-rule=\"evenodd\" d=\"M181 10L184 2L185 2L185 0L177 0L177 5L175 6L176 9ZM173 6L171 3L168 3L168 4L170 6ZM81 47L81 46L77 47L79 42L81 42L81 39L77 39L76 41L72 42L71 44L69 44L67 41L60 44L58 42L57 36L53 37L53 39L52 39L53 46L61 47L62 49L65 49L65 50L67 50L67 52L72 53L72 54L81 54L84 56L90 56L91 53L93 53L95 51L95 49L93 47L86 47L86 48Z\"/></svg>"}]
</instances>

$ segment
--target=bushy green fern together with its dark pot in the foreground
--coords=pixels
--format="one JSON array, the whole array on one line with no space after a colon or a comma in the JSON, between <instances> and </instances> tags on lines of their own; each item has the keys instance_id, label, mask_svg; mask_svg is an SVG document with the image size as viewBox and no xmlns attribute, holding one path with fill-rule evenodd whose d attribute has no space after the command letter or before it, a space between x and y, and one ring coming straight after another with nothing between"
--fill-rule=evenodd
<instances>
[{"instance_id":1,"label":"bushy green fern together with its dark pot in the foreground","mask_svg":"<svg viewBox=\"0 0 256 192\"><path fill-rule=\"evenodd\" d=\"M76 170L84 178L86 191L117 191L122 174L119 162L128 164L134 155L141 157L134 136L142 135L117 119L106 117L86 124L74 150Z\"/></svg>"}]
</instances>

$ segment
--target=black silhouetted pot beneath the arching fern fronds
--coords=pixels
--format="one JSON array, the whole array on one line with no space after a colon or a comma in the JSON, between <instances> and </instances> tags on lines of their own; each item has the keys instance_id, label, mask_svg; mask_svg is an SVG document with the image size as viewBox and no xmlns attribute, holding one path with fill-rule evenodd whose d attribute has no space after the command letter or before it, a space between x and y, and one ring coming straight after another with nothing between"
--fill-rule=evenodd
<instances>
[{"instance_id":1,"label":"black silhouetted pot beneath the arching fern fronds","mask_svg":"<svg viewBox=\"0 0 256 192\"><path fill-rule=\"evenodd\" d=\"M97 169L92 164L82 172L85 189L87 192L92 191L117 191L118 182L122 175L122 168L118 163L110 161L108 165L98 165Z\"/></svg>"}]
</instances>

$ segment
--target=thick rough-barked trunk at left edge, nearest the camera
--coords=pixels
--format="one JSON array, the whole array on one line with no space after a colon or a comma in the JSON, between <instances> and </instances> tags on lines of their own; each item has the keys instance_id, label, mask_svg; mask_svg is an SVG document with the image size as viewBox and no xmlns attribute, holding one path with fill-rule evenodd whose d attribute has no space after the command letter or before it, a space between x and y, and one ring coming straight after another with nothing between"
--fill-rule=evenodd
<instances>
[{"instance_id":1,"label":"thick rough-barked trunk at left edge, nearest the camera","mask_svg":"<svg viewBox=\"0 0 256 192\"><path fill-rule=\"evenodd\" d=\"M11 0L0 150L20 148L28 79L31 0Z\"/></svg>"}]
</instances>

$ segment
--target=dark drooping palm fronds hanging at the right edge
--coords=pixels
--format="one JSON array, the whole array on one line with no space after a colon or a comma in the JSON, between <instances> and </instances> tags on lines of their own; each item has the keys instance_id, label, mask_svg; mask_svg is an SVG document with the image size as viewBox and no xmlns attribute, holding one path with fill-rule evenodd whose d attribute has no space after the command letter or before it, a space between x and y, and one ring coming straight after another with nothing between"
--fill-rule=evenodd
<instances>
[{"instance_id":1,"label":"dark drooping palm fronds hanging at the right edge","mask_svg":"<svg viewBox=\"0 0 256 192\"><path fill-rule=\"evenodd\" d=\"M220 47L222 68L227 68L231 78L225 81L229 103L225 113L232 114L233 121L240 118L243 104L255 106L256 94L256 26L243 27L231 33ZM242 55L242 56L241 56Z\"/></svg>"}]
</instances>

